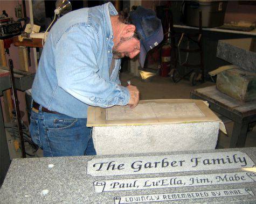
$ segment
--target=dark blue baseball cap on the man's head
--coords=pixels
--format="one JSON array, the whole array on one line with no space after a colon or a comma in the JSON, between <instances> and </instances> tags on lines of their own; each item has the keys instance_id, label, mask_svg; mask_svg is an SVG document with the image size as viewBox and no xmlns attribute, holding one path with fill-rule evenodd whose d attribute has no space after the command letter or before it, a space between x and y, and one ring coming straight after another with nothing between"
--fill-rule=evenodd
<instances>
[{"instance_id":1,"label":"dark blue baseball cap on the man's head","mask_svg":"<svg viewBox=\"0 0 256 204\"><path fill-rule=\"evenodd\" d=\"M130 19L136 27L140 38L140 65L143 68L147 52L156 47L163 40L161 20L156 17L155 11L138 6L130 12Z\"/></svg>"}]
</instances>

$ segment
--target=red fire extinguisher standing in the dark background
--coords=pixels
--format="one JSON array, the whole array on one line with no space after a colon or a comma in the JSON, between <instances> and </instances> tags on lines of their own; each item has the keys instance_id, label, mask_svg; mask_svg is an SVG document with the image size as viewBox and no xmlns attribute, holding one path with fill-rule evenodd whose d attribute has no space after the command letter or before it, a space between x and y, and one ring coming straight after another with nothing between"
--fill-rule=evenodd
<instances>
[{"instance_id":1,"label":"red fire extinguisher standing in the dark background","mask_svg":"<svg viewBox=\"0 0 256 204\"><path fill-rule=\"evenodd\" d=\"M171 65L171 45L169 43L163 45L161 49L161 69L160 76L168 77Z\"/></svg>"}]
</instances>

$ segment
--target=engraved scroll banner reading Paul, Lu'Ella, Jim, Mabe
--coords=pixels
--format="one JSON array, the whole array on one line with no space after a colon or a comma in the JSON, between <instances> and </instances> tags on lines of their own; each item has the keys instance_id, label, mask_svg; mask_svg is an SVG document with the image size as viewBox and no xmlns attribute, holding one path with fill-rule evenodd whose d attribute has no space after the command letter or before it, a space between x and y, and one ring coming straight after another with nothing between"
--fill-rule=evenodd
<instances>
[{"instance_id":1,"label":"engraved scroll banner reading Paul, Lu'Ella, Jim, Mabe","mask_svg":"<svg viewBox=\"0 0 256 204\"><path fill-rule=\"evenodd\" d=\"M176 177L147 177L135 179L97 180L94 182L96 193L107 191L130 191L156 188L176 188L205 185L226 185L256 181L255 172L232 172L196 174Z\"/></svg>"}]
</instances>

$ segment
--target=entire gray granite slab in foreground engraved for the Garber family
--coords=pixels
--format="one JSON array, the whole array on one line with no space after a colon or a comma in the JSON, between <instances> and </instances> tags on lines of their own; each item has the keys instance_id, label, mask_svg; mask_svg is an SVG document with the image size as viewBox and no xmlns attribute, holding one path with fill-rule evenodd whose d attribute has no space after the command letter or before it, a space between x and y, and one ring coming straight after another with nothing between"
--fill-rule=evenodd
<instances>
[{"instance_id":1,"label":"entire gray granite slab in foreground engraved for the Garber family","mask_svg":"<svg viewBox=\"0 0 256 204\"><path fill-rule=\"evenodd\" d=\"M255 203L256 148L14 159L0 203Z\"/></svg>"}]
</instances>

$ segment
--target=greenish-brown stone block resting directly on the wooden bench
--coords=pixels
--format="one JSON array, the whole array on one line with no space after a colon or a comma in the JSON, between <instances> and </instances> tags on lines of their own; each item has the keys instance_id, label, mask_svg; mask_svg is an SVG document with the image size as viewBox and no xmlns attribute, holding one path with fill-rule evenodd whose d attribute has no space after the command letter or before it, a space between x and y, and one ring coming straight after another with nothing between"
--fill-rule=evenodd
<instances>
[{"instance_id":1,"label":"greenish-brown stone block resting directly on the wooden bench","mask_svg":"<svg viewBox=\"0 0 256 204\"><path fill-rule=\"evenodd\" d=\"M243 69L230 69L217 75L219 91L240 101L256 100L256 73Z\"/></svg>"}]
</instances>

